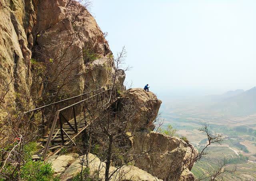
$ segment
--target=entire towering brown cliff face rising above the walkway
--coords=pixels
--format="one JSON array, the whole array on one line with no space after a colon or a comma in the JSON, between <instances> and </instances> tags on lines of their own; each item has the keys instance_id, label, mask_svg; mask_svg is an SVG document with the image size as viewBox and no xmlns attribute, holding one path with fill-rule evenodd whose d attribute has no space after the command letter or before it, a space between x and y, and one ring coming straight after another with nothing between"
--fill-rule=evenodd
<instances>
[{"instance_id":1,"label":"entire towering brown cliff face rising above the walkway","mask_svg":"<svg viewBox=\"0 0 256 181\"><path fill-rule=\"evenodd\" d=\"M80 77L67 84L75 87L72 94L110 84L114 62L108 42L91 14L76 1L0 0L0 16L0 88L7 94L2 104L13 105L17 94L35 93L31 91L32 58L45 62L49 75L54 68L62 71L52 74L60 78L71 72L63 71L64 67L76 67ZM96 55L87 62L89 48ZM119 71L119 75L121 86L125 74Z\"/></svg>"}]
</instances>

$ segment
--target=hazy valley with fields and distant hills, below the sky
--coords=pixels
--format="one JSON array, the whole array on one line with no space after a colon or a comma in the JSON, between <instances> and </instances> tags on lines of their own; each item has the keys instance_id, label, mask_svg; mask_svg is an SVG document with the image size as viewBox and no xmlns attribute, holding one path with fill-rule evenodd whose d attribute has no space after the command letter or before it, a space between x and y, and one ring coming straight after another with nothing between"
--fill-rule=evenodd
<instances>
[{"instance_id":1,"label":"hazy valley with fields and distant hills, below the sky","mask_svg":"<svg viewBox=\"0 0 256 181\"><path fill-rule=\"evenodd\" d=\"M172 125L180 137L186 136L198 150L208 140L199 131L204 122L224 138L221 144L211 145L206 157L194 165L192 172L196 176L227 160L228 167L236 165L237 168L235 174L227 174L225 180L256 179L256 87L205 96L161 95L160 114L164 125Z\"/></svg>"}]
</instances>

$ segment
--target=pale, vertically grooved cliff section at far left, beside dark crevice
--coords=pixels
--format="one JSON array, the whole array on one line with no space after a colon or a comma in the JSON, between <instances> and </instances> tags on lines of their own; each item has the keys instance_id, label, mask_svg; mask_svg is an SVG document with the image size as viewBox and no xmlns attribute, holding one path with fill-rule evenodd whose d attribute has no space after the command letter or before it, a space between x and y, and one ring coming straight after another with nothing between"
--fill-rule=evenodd
<instances>
[{"instance_id":1,"label":"pale, vertically grooved cliff section at far left, beside dark crevice","mask_svg":"<svg viewBox=\"0 0 256 181\"><path fill-rule=\"evenodd\" d=\"M32 36L36 16L32 1L0 0L0 89L6 93L2 104L10 106L17 93L26 94L32 84Z\"/></svg>"}]
</instances>

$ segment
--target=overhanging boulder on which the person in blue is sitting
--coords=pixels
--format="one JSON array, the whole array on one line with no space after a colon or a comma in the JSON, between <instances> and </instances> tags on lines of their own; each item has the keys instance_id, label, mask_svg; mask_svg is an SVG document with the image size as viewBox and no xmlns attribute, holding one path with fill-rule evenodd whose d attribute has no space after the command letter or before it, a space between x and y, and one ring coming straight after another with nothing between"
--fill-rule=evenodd
<instances>
[{"instance_id":1,"label":"overhanging boulder on which the person in blue is sitting","mask_svg":"<svg viewBox=\"0 0 256 181\"><path fill-rule=\"evenodd\" d=\"M134 106L139 107L140 110L133 118L133 125L140 125L142 129L154 130L154 121L162 101L153 92L147 92L141 88L128 89L122 94L120 101L124 104L125 102L132 102Z\"/></svg>"}]
</instances>

